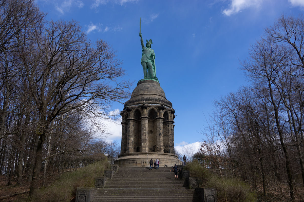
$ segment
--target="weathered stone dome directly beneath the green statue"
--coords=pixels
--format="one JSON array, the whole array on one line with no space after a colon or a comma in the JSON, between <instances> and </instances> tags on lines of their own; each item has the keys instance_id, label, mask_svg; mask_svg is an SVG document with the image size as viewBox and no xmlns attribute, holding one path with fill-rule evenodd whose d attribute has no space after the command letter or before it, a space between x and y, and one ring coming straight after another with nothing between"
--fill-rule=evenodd
<instances>
[{"instance_id":1,"label":"weathered stone dome directly beneath the green statue","mask_svg":"<svg viewBox=\"0 0 304 202\"><path fill-rule=\"evenodd\" d=\"M166 99L164 90L155 80L140 80L132 92L125 107L137 104L162 104L172 108L172 103Z\"/></svg>"}]
</instances>

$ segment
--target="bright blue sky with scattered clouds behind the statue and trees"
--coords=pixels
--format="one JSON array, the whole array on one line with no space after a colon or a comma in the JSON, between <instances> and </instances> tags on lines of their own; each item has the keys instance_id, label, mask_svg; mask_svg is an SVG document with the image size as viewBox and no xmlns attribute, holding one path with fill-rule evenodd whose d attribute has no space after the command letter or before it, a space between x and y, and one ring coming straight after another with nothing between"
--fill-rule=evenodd
<instances>
[{"instance_id":1,"label":"bright blue sky with scattered clouds behind the statue and trees","mask_svg":"<svg viewBox=\"0 0 304 202\"><path fill-rule=\"evenodd\" d=\"M304 0L36 0L48 20L75 20L88 39L103 39L123 61L126 80L143 78L143 39L152 39L156 74L166 98L176 109L174 142L197 148L213 100L236 91L247 81L239 61L250 44L282 14L299 15ZM115 103L113 110L122 111ZM106 123L108 140L121 141L121 126Z\"/></svg>"}]
</instances>

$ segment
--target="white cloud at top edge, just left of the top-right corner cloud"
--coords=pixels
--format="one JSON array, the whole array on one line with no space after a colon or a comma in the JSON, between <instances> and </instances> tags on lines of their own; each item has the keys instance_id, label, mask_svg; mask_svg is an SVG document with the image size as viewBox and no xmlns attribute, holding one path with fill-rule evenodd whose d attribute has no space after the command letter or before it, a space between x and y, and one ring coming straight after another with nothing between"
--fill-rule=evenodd
<instances>
[{"instance_id":1,"label":"white cloud at top edge, just left of the top-right corner cloud","mask_svg":"<svg viewBox=\"0 0 304 202\"><path fill-rule=\"evenodd\" d=\"M258 7L261 4L261 1L262 0L231 0L230 8L223 10L223 14L230 16L249 7Z\"/></svg>"}]
</instances>

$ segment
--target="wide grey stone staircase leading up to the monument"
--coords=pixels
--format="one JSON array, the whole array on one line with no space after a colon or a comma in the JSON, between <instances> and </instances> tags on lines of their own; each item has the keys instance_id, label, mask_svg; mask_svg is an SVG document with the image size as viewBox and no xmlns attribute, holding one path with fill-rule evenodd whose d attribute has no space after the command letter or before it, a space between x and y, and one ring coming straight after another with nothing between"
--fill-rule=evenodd
<instances>
[{"instance_id":1,"label":"wide grey stone staircase leading up to the monument","mask_svg":"<svg viewBox=\"0 0 304 202\"><path fill-rule=\"evenodd\" d=\"M119 187L119 188L118 188ZM170 168L119 167L105 188L97 189L97 201L199 201L188 180L175 179Z\"/></svg>"}]
</instances>

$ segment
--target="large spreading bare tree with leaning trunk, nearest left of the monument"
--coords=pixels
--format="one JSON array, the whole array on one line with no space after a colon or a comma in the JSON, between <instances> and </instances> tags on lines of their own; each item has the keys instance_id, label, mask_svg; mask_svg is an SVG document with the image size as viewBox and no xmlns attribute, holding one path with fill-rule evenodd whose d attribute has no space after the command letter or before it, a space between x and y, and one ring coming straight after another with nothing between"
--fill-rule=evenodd
<instances>
[{"instance_id":1,"label":"large spreading bare tree with leaning trunk, nearest left of the monument","mask_svg":"<svg viewBox=\"0 0 304 202\"><path fill-rule=\"evenodd\" d=\"M113 50L102 40L88 42L76 22L49 22L36 35L36 47L24 56L29 93L39 111L36 134L39 141L30 188L37 188L43 144L51 123L71 110L95 117L113 118L110 104L127 98L128 82ZM114 85L113 85L114 84Z\"/></svg>"}]
</instances>

